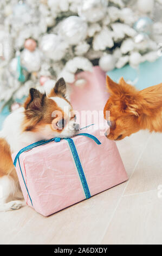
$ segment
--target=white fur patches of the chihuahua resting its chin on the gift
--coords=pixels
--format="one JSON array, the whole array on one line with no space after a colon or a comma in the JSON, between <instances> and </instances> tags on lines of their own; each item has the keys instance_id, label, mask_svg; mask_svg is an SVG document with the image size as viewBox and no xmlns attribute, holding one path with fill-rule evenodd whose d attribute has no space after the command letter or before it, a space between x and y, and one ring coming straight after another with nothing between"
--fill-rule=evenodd
<instances>
[{"instance_id":1,"label":"white fur patches of the chihuahua resting its chin on the gift","mask_svg":"<svg viewBox=\"0 0 162 256\"><path fill-rule=\"evenodd\" d=\"M51 97L66 114L69 114L70 104L61 97ZM22 132L22 122L24 120L23 107L12 112L4 121L3 130L0 132L0 138L4 138L10 145L11 153L19 151L27 145L40 141L41 139L50 139L58 137L58 133L49 129L49 126L43 127L38 132ZM65 127L59 134L59 137L70 137L75 134L74 120L70 120L69 125ZM1 160L0 160L1 161ZM14 168L14 166L13 166ZM22 192L18 181L11 178L10 175L5 175L0 178L0 211L9 211L21 208L23 202Z\"/></svg>"}]
</instances>

